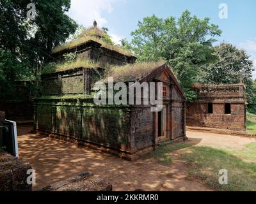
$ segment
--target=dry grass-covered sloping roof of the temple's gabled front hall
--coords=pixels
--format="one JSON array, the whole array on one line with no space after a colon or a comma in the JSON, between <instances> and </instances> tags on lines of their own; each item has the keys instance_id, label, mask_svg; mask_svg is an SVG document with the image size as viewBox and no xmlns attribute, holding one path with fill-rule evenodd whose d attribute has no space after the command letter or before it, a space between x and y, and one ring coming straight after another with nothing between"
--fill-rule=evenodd
<instances>
[{"instance_id":1,"label":"dry grass-covered sloping roof of the temple's gabled front hall","mask_svg":"<svg viewBox=\"0 0 256 204\"><path fill-rule=\"evenodd\" d=\"M108 77L113 77L114 82L137 82L163 64L163 61L159 61L113 66L106 70L102 82L108 82Z\"/></svg>"}]
</instances>

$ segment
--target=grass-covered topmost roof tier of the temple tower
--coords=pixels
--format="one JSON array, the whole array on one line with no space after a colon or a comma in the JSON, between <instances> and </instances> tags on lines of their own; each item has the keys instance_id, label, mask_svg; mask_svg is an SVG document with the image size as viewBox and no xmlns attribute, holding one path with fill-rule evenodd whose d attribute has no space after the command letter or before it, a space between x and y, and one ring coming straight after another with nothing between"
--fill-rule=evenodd
<instances>
[{"instance_id":1,"label":"grass-covered topmost roof tier of the temple tower","mask_svg":"<svg viewBox=\"0 0 256 204\"><path fill-rule=\"evenodd\" d=\"M78 45L81 45L83 43L86 43L88 41L96 41L97 43L101 44L101 47L107 48L109 50L114 50L115 52L119 52L120 54L124 54L127 56L133 56L131 52L128 50L125 50L124 48L118 46L118 45L111 45L107 43L106 41L103 41L102 38L106 34L104 31L98 29L97 27L86 29L81 34L80 38L74 41L70 41L68 43L64 43L63 45L60 45L52 51L52 53L60 52L61 50L65 50L68 48L77 47Z\"/></svg>"}]
</instances>

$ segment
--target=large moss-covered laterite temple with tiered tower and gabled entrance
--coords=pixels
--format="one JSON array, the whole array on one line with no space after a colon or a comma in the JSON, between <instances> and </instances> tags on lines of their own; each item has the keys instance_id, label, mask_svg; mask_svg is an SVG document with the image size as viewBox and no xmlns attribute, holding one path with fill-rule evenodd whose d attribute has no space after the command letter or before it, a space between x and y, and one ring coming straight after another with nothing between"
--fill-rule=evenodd
<instances>
[{"instance_id":1,"label":"large moss-covered laterite temple with tiered tower and gabled entrance","mask_svg":"<svg viewBox=\"0 0 256 204\"><path fill-rule=\"evenodd\" d=\"M79 40L52 53L58 62L42 74L42 96L34 101L34 128L129 160L164 140L185 140L186 98L171 69L161 62L135 63L131 53L104 41L104 34L94 23ZM63 62L68 54L75 54L75 61ZM114 84L163 82L163 109L152 112L154 105L144 102L96 105L93 85L109 77ZM141 89L141 101L143 96ZM138 96L129 97L135 101Z\"/></svg>"}]
</instances>

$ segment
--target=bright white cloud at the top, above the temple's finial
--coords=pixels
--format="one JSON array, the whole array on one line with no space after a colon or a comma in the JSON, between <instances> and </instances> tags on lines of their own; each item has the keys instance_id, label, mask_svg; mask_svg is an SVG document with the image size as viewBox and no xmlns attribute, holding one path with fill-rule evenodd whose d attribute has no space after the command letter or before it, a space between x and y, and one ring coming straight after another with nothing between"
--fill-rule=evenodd
<instances>
[{"instance_id":1,"label":"bright white cloud at the top, above the temple's finial","mask_svg":"<svg viewBox=\"0 0 256 204\"><path fill-rule=\"evenodd\" d=\"M96 20L99 27L102 27L108 22L102 17L102 12L111 13L113 11L112 4L123 0L71 0L71 7L68 15L77 21L78 24L83 24L86 27L93 24Z\"/></svg>"}]
</instances>

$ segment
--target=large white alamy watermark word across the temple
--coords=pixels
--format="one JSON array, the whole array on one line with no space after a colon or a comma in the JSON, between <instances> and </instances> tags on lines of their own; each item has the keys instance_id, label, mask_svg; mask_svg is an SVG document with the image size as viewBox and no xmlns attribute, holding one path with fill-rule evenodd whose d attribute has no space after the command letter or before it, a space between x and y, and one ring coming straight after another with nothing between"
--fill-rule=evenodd
<instances>
[{"instance_id":1,"label":"large white alamy watermark word across the temple","mask_svg":"<svg viewBox=\"0 0 256 204\"><path fill-rule=\"evenodd\" d=\"M127 84L116 82L114 85L113 77L108 78L108 84L95 83L94 103L96 105L151 105L151 112L159 112L163 109L162 82L141 84L129 82Z\"/></svg>"}]
</instances>

